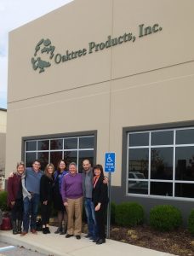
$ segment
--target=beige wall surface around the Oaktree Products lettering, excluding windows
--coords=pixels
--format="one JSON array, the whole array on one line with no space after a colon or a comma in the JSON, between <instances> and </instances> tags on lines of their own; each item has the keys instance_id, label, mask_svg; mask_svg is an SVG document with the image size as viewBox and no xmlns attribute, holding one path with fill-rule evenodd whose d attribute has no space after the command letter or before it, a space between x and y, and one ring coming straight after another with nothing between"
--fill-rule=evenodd
<instances>
[{"instance_id":1,"label":"beige wall surface around the Oaktree Products lettering, excluding windows","mask_svg":"<svg viewBox=\"0 0 194 256\"><path fill-rule=\"evenodd\" d=\"M21 137L96 130L97 162L116 152L112 183L120 186L123 127L194 119L193 9L192 0L175 8L168 0L76 0L10 32L6 174L20 160ZM139 37L146 26L155 32ZM65 54L129 32L134 42L52 61L43 73L31 67L41 38Z\"/></svg>"}]
</instances>

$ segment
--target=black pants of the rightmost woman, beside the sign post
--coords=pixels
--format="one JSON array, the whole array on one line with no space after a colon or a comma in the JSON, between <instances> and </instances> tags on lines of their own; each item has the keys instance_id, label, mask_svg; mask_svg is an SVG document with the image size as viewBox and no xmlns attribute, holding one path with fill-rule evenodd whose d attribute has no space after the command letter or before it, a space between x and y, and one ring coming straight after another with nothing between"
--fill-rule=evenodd
<instances>
[{"instance_id":1,"label":"black pants of the rightmost woman, beside the sign post","mask_svg":"<svg viewBox=\"0 0 194 256\"><path fill-rule=\"evenodd\" d=\"M106 208L107 205L101 205L100 210L95 212L98 235L100 239L106 238L105 223L106 223Z\"/></svg>"}]
</instances>

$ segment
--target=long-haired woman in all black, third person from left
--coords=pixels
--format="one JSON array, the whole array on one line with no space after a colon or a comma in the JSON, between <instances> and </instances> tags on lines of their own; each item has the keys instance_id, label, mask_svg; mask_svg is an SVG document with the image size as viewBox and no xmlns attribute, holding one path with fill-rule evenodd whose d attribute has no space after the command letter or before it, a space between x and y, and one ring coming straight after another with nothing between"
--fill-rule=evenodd
<instances>
[{"instance_id":1,"label":"long-haired woman in all black, third person from left","mask_svg":"<svg viewBox=\"0 0 194 256\"><path fill-rule=\"evenodd\" d=\"M49 218L51 213L51 203L53 198L54 185L54 165L48 164L45 168L44 175L40 181L40 201L41 201L41 215L43 223L43 234L50 233Z\"/></svg>"}]
</instances>

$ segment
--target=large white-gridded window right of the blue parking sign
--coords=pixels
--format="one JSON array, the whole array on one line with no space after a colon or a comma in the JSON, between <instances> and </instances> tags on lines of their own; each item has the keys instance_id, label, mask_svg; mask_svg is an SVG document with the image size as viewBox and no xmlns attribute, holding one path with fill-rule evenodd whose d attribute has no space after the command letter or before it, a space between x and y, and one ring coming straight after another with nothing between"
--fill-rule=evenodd
<instances>
[{"instance_id":1,"label":"large white-gridded window right of the blue parking sign","mask_svg":"<svg viewBox=\"0 0 194 256\"><path fill-rule=\"evenodd\" d=\"M194 198L194 128L128 132L127 193Z\"/></svg>"}]
</instances>

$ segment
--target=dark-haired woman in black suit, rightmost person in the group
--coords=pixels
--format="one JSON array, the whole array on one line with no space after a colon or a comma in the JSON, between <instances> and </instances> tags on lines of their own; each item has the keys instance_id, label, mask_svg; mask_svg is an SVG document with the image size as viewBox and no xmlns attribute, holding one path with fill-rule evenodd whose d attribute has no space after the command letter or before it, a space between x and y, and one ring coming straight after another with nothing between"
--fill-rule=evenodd
<instances>
[{"instance_id":1,"label":"dark-haired woman in black suit, rightmost person in the group","mask_svg":"<svg viewBox=\"0 0 194 256\"><path fill-rule=\"evenodd\" d=\"M96 244L106 242L105 221L108 206L108 188L107 183L104 183L103 180L103 167L101 165L94 166L93 202L95 207L97 229L99 233L98 238L94 240Z\"/></svg>"}]
</instances>

